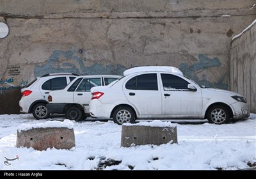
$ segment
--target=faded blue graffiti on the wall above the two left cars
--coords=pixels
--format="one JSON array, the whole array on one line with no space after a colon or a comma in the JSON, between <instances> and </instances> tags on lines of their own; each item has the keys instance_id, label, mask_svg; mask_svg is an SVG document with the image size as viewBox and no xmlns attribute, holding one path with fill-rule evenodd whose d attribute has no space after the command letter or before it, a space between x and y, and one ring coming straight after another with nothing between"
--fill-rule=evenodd
<instances>
[{"instance_id":1,"label":"faded blue graffiti on the wall above the two left cars","mask_svg":"<svg viewBox=\"0 0 256 179\"><path fill-rule=\"evenodd\" d=\"M66 59L65 63L61 63L61 59ZM61 66L60 66L61 65ZM95 63L91 66L86 66L86 58L76 55L76 51L54 51L49 57L49 60L44 65L36 65L34 75L36 77L47 73L73 72L77 74L115 74L122 75L125 66L122 65L102 65Z\"/></svg>"}]
</instances>

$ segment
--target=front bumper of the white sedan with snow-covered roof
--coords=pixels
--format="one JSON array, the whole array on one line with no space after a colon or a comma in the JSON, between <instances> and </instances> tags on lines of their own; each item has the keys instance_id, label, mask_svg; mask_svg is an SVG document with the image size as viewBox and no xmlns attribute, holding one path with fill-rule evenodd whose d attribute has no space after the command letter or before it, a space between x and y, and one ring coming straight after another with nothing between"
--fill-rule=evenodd
<instances>
[{"instance_id":1,"label":"front bumper of the white sedan with snow-covered roof","mask_svg":"<svg viewBox=\"0 0 256 179\"><path fill-rule=\"evenodd\" d=\"M244 102L236 102L230 105L233 109L233 118L234 119L243 119L250 116L250 105Z\"/></svg>"}]
</instances>

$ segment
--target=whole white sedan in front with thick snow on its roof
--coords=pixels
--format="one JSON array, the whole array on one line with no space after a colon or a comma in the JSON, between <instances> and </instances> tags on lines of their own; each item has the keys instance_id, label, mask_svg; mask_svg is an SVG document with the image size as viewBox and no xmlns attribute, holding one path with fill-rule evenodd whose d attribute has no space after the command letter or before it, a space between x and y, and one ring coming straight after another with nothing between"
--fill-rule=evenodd
<instances>
[{"instance_id":1,"label":"whole white sedan in front with thick snow on its roof","mask_svg":"<svg viewBox=\"0 0 256 179\"><path fill-rule=\"evenodd\" d=\"M172 66L141 66L105 88L92 88L90 114L122 124L143 118L205 119L222 124L250 116L246 98L205 88Z\"/></svg>"}]
</instances>

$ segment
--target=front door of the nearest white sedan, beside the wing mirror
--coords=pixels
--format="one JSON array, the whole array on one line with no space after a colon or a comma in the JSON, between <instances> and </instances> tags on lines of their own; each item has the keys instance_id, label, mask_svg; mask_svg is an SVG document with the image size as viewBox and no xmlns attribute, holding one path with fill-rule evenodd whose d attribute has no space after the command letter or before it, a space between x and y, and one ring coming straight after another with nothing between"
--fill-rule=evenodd
<instances>
[{"instance_id":1,"label":"front door of the nearest white sedan, beside the wing mirror","mask_svg":"<svg viewBox=\"0 0 256 179\"><path fill-rule=\"evenodd\" d=\"M198 116L202 114L202 92L188 89L189 82L173 75L161 73L163 115Z\"/></svg>"}]
</instances>

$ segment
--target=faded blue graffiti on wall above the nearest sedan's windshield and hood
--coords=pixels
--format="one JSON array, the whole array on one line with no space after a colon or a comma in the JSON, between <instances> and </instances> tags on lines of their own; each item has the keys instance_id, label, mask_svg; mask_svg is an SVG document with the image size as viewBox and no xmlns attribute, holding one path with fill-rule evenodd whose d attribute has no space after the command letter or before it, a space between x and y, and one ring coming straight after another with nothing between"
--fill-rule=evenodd
<instances>
[{"instance_id":1,"label":"faded blue graffiti on wall above the nearest sedan's windshield and hood","mask_svg":"<svg viewBox=\"0 0 256 179\"><path fill-rule=\"evenodd\" d=\"M206 76L203 75L203 79L199 79L196 74L202 72L203 70L207 70L212 67L221 66L220 60L218 58L209 58L204 56L204 54L199 54L198 56L199 61L193 63L193 65L188 66L186 63L181 63L179 68L180 70L187 75L189 78L193 79L194 81L207 86L207 87L214 87L214 88L221 88L221 89L228 89L228 84L225 83L225 78L228 76L228 72L225 75L221 76L217 82L209 82L206 80Z\"/></svg>"}]
</instances>

